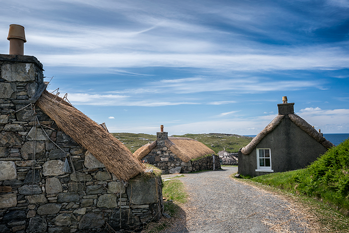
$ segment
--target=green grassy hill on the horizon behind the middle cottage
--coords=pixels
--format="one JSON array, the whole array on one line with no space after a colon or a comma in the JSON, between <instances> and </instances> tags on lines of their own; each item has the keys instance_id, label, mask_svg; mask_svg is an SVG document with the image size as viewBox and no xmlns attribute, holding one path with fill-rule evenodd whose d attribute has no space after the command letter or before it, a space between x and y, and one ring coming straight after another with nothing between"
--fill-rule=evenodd
<instances>
[{"instance_id":1,"label":"green grassy hill on the horizon behind the middle cottage","mask_svg":"<svg viewBox=\"0 0 349 233\"><path fill-rule=\"evenodd\" d=\"M157 139L156 135L151 134L132 134L132 133L112 133L114 137L119 139L125 144L131 152L135 152L141 146L153 142ZM251 137L240 136L236 134L184 134L184 135L173 135L172 137L184 137L195 139L209 148L211 148L215 153L222 151L223 148L227 152L233 153L237 152L239 148L246 146L251 140Z\"/></svg>"}]
</instances>

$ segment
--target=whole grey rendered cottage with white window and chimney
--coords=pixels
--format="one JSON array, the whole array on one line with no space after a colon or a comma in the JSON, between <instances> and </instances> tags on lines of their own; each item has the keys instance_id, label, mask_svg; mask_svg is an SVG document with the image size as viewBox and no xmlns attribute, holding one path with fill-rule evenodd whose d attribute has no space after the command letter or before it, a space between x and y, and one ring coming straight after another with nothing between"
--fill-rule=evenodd
<instances>
[{"instance_id":1,"label":"whole grey rendered cottage with white window and chimney","mask_svg":"<svg viewBox=\"0 0 349 233\"><path fill-rule=\"evenodd\" d=\"M286 96L278 110L277 117L239 150L238 174L260 176L305 168L334 146L294 113L294 103L287 103Z\"/></svg>"}]
</instances>

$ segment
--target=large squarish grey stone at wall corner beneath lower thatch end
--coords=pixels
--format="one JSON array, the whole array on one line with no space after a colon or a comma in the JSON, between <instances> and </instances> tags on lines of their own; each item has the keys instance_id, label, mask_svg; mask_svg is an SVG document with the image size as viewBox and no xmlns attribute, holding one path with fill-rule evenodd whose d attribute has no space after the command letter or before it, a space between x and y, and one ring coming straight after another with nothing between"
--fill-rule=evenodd
<instances>
[{"instance_id":1,"label":"large squarish grey stone at wall corner beneath lower thatch end","mask_svg":"<svg viewBox=\"0 0 349 233\"><path fill-rule=\"evenodd\" d=\"M158 194L157 178L137 178L130 181L127 187L127 196L130 198L130 203L133 205L144 205L157 203ZM131 196L132 193L132 196Z\"/></svg>"}]
</instances>

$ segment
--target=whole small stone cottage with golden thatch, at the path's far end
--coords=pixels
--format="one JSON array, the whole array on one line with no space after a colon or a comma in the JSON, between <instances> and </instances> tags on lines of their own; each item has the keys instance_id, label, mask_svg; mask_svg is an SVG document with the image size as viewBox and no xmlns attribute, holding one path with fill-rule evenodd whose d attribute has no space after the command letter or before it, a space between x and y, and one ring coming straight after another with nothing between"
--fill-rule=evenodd
<instances>
[{"instance_id":1,"label":"whole small stone cottage with golden thatch, at the path's far end","mask_svg":"<svg viewBox=\"0 0 349 233\"><path fill-rule=\"evenodd\" d=\"M168 137L157 132L157 140L133 153L134 158L160 168L163 174L220 169L219 157L204 144L190 138Z\"/></svg>"}]
</instances>

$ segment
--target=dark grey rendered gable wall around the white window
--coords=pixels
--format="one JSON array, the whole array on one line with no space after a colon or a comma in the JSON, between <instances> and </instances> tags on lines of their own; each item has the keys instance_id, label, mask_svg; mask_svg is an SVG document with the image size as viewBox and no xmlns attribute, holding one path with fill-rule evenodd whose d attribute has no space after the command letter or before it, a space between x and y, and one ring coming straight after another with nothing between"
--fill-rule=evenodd
<instances>
[{"instance_id":1,"label":"dark grey rendered gable wall around the white window","mask_svg":"<svg viewBox=\"0 0 349 233\"><path fill-rule=\"evenodd\" d=\"M274 172L286 172L307 167L327 149L294 124L288 115L267 134L248 155L239 150L238 173L260 176L268 172L256 172L257 148L271 149L271 165Z\"/></svg>"}]
</instances>

